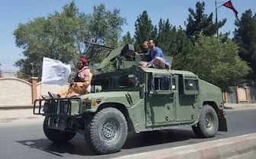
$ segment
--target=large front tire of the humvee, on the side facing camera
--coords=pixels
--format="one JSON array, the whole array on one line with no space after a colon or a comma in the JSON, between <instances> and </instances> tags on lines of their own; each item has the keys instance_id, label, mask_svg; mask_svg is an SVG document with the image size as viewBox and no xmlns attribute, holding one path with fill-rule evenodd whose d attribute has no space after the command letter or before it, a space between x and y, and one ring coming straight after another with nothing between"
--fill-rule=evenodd
<instances>
[{"instance_id":1,"label":"large front tire of the humvee, on the side facing camera","mask_svg":"<svg viewBox=\"0 0 256 159\"><path fill-rule=\"evenodd\" d=\"M100 110L86 123L86 143L98 154L119 151L125 144L128 126L119 110L109 107Z\"/></svg>"}]
</instances>

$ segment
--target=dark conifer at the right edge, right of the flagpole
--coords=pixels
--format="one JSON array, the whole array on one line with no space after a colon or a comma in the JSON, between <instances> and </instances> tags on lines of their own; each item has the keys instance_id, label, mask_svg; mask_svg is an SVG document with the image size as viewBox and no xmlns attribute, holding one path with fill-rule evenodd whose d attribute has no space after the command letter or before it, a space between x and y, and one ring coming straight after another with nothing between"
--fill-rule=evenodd
<instances>
[{"instance_id":1,"label":"dark conifer at the right edge, right of the flagpole","mask_svg":"<svg viewBox=\"0 0 256 159\"><path fill-rule=\"evenodd\" d=\"M234 40L239 46L239 56L252 68L248 78L256 81L256 14L252 15L251 9L245 11L241 15L241 21L237 21L235 25L238 29L235 30Z\"/></svg>"}]
</instances>

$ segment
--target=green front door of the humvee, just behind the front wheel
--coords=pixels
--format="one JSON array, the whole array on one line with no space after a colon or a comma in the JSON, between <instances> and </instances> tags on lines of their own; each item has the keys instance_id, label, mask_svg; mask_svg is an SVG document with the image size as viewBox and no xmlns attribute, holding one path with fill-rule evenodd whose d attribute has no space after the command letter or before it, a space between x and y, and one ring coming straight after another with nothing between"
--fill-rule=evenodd
<instances>
[{"instance_id":1,"label":"green front door of the humvee, just behind the front wheel","mask_svg":"<svg viewBox=\"0 0 256 159\"><path fill-rule=\"evenodd\" d=\"M149 74L145 97L146 126L168 125L175 120L171 75Z\"/></svg>"}]
</instances>

